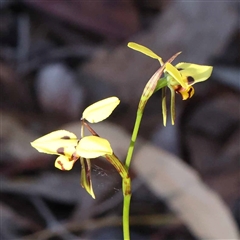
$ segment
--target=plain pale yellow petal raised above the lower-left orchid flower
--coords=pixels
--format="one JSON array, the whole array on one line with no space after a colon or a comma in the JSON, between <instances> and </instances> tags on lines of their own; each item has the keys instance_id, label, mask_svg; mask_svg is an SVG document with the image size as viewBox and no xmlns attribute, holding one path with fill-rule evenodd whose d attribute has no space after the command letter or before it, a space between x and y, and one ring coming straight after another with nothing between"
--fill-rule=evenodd
<instances>
[{"instance_id":1,"label":"plain pale yellow petal raised above the lower-left orchid flower","mask_svg":"<svg viewBox=\"0 0 240 240\"><path fill-rule=\"evenodd\" d=\"M109 97L98 101L84 110L82 119L86 119L90 123L101 122L112 113L119 103L120 100L117 97Z\"/></svg>"}]
</instances>

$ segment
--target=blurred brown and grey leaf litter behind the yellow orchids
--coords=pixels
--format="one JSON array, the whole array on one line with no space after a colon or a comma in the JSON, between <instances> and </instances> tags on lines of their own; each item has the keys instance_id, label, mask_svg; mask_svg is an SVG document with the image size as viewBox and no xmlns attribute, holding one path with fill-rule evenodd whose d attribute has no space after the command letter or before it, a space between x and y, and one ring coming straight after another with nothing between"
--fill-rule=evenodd
<instances>
[{"instance_id":1,"label":"blurred brown and grey leaf litter behind the yellow orchids","mask_svg":"<svg viewBox=\"0 0 240 240\"><path fill-rule=\"evenodd\" d=\"M218 232L214 239L237 239L239 9L237 1L1 0L1 239L122 239L121 179L115 169L102 159L92 161L93 200L80 186L79 164L70 172L59 171L55 156L38 153L30 142L58 129L79 134L84 108L115 95L121 104L93 128L124 161L139 97L159 67L127 48L129 41L163 60L182 51L175 63L214 66L211 78L196 85L193 98L176 96L175 126L162 126L160 93L146 107L131 170L132 239L213 239L209 236ZM147 147L154 150L143 153ZM151 163L156 155L159 166ZM182 171L173 171L173 163ZM156 182L146 174L149 168L160 179L156 169L162 169L166 178ZM214 229L209 223L209 235L197 211L192 219L184 215L194 212L187 207L190 202L171 202L172 195L188 196L191 181L185 171L226 214L216 213L219 223L214 221ZM167 195L169 182L178 191ZM192 194L196 209L198 194ZM208 194L203 199L201 213L207 207L214 211ZM221 218L227 219L226 228L220 227Z\"/></svg>"}]
</instances>

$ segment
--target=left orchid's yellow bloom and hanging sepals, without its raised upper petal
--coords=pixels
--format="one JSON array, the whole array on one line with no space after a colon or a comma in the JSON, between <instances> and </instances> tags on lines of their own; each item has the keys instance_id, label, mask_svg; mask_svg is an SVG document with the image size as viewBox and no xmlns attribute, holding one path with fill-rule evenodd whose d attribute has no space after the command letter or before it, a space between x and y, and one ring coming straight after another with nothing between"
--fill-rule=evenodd
<instances>
[{"instance_id":1,"label":"left orchid's yellow bloom and hanging sepals, without its raised upper petal","mask_svg":"<svg viewBox=\"0 0 240 240\"><path fill-rule=\"evenodd\" d=\"M91 163L89 159L113 153L110 143L106 139L86 136L78 140L75 134L65 130L58 130L36 139L31 142L31 145L39 152L59 155L55 160L55 167L60 170L71 170L73 164L80 158L82 166L81 185L95 198L92 189ZM84 149L84 146L86 146L86 149Z\"/></svg>"}]
</instances>

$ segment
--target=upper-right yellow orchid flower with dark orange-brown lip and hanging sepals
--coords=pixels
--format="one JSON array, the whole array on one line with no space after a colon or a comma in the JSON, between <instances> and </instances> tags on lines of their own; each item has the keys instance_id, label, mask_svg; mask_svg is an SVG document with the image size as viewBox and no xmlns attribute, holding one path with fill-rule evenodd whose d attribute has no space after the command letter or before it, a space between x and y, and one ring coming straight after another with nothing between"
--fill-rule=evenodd
<instances>
[{"instance_id":1,"label":"upper-right yellow orchid flower with dark orange-brown lip and hanging sepals","mask_svg":"<svg viewBox=\"0 0 240 240\"><path fill-rule=\"evenodd\" d=\"M178 63L173 66L171 63L167 62L164 64L162 58L155 54L152 50L144 47L140 44L130 42L128 47L139 51L153 59L157 59L161 66L165 65L165 78L167 82L166 85L171 91L171 119L172 124L175 120L175 92L182 95L183 100L191 98L194 94L194 88L192 85L198 82L207 80L212 73L212 66L198 65L193 63ZM159 79L163 80L163 79ZM157 88L157 87L156 87ZM166 126L167 121L167 108L166 108L166 88L162 88L162 113L163 113L163 124Z\"/></svg>"}]
</instances>

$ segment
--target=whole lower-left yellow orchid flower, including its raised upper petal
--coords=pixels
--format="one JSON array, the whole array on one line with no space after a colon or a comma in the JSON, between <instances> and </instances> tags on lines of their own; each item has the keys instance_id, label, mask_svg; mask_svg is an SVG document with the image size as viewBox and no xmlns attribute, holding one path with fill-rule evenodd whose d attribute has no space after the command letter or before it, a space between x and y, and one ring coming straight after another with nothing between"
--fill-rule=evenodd
<instances>
[{"instance_id":1,"label":"whole lower-left yellow orchid flower, including its raised upper petal","mask_svg":"<svg viewBox=\"0 0 240 240\"><path fill-rule=\"evenodd\" d=\"M117 97L110 97L90 105L83 112L82 121L86 119L94 123L106 119L119 102ZM31 145L39 152L59 155L55 160L55 167L60 170L71 170L74 163L80 159L81 185L95 198L92 189L90 159L100 156L108 157L114 154L108 140L99 137L97 134L95 136L83 136L83 131L81 135L81 138L78 139L72 132L58 130L36 139L31 142Z\"/></svg>"}]
</instances>

